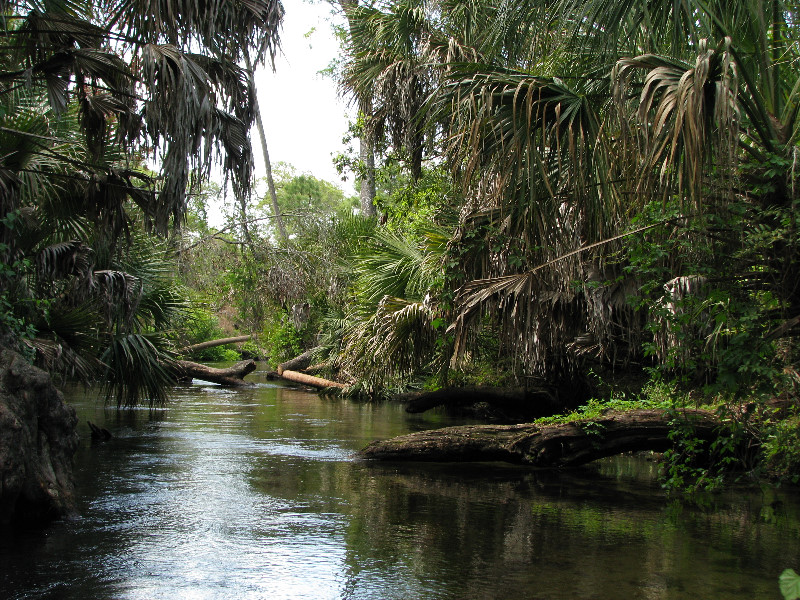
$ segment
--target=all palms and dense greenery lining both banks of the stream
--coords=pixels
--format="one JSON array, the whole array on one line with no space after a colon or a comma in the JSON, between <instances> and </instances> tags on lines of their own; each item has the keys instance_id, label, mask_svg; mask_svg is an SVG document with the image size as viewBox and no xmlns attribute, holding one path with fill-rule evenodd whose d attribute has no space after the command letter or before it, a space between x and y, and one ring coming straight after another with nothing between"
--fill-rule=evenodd
<instances>
[{"instance_id":1,"label":"all palms and dense greenery lining both banks of the stream","mask_svg":"<svg viewBox=\"0 0 800 600\"><path fill-rule=\"evenodd\" d=\"M765 412L800 383L792 5L340 2L333 70L361 146L338 164L375 196L358 215L276 169L282 232L248 193L237 66L274 49L280 6L108 4L6 6L7 344L131 401L163 398L171 351L238 330L273 363L317 348L369 397L489 384L564 409L710 404L765 459L730 441L725 460L796 472L800 421ZM223 230L190 181L215 144Z\"/></svg>"}]
</instances>

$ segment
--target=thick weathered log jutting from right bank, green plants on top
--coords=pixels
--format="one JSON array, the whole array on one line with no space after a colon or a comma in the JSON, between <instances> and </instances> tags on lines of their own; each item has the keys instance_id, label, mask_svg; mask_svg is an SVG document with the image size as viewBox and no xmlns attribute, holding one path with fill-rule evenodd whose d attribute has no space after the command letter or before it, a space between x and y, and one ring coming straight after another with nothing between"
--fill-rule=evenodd
<instances>
[{"instance_id":1,"label":"thick weathered log jutting from right bank, green plants on top","mask_svg":"<svg viewBox=\"0 0 800 600\"><path fill-rule=\"evenodd\" d=\"M676 417L663 410L609 413L558 425L471 425L421 431L376 441L362 458L441 462L504 461L541 468L582 465L628 451L664 451L671 447ZM712 440L719 419L710 412L686 410L677 417L694 436Z\"/></svg>"}]
</instances>

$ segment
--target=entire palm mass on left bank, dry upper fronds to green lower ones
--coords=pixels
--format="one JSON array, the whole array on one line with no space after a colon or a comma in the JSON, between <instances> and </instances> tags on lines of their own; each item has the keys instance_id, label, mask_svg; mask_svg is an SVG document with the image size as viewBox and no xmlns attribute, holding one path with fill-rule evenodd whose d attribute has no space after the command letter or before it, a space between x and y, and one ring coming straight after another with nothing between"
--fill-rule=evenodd
<instances>
[{"instance_id":1,"label":"entire palm mass on left bank, dry upper fronds to green lower ones","mask_svg":"<svg viewBox=\"0 0 800 600\"><path fill-rule=\"evenodd\" d=\"M252 179L253 90L274 55L277 0L7 1L0 36L3 343L102 379L119 403L165 398L164 331L185 307L150 237L221 157ZM149 162L148 162L149 161ZM157 165L152 172L146 164Z\"/></svg>"}]
</instances>

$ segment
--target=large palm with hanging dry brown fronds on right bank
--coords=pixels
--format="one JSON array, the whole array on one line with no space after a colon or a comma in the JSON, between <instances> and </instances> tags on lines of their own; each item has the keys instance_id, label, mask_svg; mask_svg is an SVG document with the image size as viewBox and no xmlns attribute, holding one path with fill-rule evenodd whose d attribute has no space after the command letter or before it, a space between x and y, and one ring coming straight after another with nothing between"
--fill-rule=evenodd
<instances>
[{"instance_id":1,"label":"large palm with hanging dry brown fronds on right bank","mask_svg":"<svg viewBox=\"0 0 800 600\"><path fill-rule=\"evenodd\" d=\"M547 14L522 47L545 40L554 59L447 65L433 103L474 198L462 237L487 236L465 259L475 279L460 290L457 350L489 313L527 369L574 365L587 347L641 356L642 315L624 301L641 281L608 257L654 199L677 203L660 218L661 283L713 271L729 296L769 291L797 311L790 7L565 0ZM753 246L759 228L774 240ZM678 230L693 248L669 242Z\"/></svg>"}]
</instances>

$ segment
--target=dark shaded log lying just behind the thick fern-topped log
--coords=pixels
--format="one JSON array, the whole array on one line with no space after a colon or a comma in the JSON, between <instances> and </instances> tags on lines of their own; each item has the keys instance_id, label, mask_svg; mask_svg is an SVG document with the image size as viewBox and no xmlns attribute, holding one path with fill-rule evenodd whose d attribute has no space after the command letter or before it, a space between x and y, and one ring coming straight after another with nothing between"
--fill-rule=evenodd
<instances>
[{"instance_id":1,"label":"dark shaded log lying just behind the thick fern-topped log","mask_svg":"<svg viewBox=\"0 0 800 600\"><path fill-rule=\"evenodd\" d=\"M456 387L433 392L400 394L394 400L406 405L406 412L421 413L437 406L489 404L500 411L524 414L528 418L547 417L564 410L556 396L547 390L525 388Z\"/></svg>"}]
</instances>

